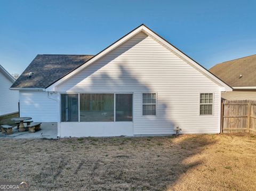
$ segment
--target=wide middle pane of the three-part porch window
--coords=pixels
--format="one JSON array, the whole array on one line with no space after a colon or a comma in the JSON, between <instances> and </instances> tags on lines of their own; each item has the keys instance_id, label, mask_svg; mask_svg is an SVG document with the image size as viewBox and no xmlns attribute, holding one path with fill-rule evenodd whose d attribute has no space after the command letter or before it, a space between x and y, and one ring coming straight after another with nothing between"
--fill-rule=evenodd
<instances>
[{"instance_id":1,"label":"wide middle pane of the three-part porch window","mask_svg":"<svg viewBox=\"0 0 256 191\"><path fill-rule=\"evenodd\" d=\"M80 94L80 121L114 121L114 94Z\"/></svg>"}]
</instances>

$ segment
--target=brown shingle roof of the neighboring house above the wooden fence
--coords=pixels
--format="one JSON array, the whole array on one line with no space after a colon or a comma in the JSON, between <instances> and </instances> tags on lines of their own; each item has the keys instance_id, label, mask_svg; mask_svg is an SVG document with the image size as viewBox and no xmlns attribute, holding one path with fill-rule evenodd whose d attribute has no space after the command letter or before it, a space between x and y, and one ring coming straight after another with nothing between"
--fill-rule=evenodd
<instances>
[{"instance_id":1,"label":"brown shingle roof of the neighboring house above the wooden fence","mask_svg":"<svg viewBox=\"0 0 256 191\"><path fill-rule=\"evenodd\" d=\"M215 76L233 88L256 88L256 54L214 65L210 69Z\"/></svg>"}]
</instances>

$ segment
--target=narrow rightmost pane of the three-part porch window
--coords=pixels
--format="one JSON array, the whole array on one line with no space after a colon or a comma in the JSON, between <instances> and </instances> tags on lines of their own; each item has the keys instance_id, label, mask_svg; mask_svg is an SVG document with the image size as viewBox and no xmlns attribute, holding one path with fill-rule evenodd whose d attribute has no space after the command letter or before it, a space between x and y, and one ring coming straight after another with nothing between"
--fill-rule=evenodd
<instances>
[{"instance_id":1,"label":"narrow rightmost pane of the three-part porch window","mask_svg":"<svg viewBox=\"0 0 256 191\"><path fill-rule=\"evenodd\" d=\"M116 121L132 121L132 94L116 94Z\"/></svg>"}]
</instances>

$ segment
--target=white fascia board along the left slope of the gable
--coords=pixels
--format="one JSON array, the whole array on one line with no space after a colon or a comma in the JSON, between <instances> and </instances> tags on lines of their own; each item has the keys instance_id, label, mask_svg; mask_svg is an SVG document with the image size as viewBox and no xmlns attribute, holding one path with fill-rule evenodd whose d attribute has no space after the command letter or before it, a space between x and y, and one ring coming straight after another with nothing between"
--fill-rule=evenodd
<instances>
[{"instance_id":1,"label":"white fascia board along the left slope of the gable","mask_svg":"<svg viewBox=\"0 0 256 191\"><path fill-rule=\"evenodd\" d=\"M119 39L118 41L116 41L114 44L110 45L109 47L107 47L106 49L104 49L102 52L100 52L99 54L95 55L94 57L92 57L92 59L90 59L89 61L85 62L83 65L81 65L81 67L75 69L74 71L70 72L69 74L67 74L65 77L59 79L58 81L56 81L55 83L53 83L51 86L46 88L47 92L55 92L55 86L58 86L60 84L62 84L64 81L66 81L67 79L69 79L70 77L74 76L76 73L82 71L83 69L85 69L88 65L90 65L91 63L99 60L102 56L106 55L107 53L109 53L110 51L113 51L113 49L115 49L116 47L118 47L119 45L123 44L125 41L129 40L130 38L132 38L134 35L138 34L139 32L142 31L142 27L140 26L137 29L133 30L132 32L130 32L129 34L127 34L126 36L124 36L123 38Z\"/></svg>"}]
</instances>

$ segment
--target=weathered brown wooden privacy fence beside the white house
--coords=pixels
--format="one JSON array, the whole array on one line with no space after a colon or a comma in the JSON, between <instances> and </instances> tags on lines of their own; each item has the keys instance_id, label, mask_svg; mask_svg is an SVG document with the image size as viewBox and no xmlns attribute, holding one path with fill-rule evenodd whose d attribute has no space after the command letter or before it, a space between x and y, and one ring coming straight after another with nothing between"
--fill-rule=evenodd
<instances>
[{"instance_id":1,"label":"weathered brown wooden privacy fence beside the white house","mask_svg":"<svg viewBox=\"0 0 256 191\"><path fill-rule=\"evenodd\" d=\"M221 132L256 133L256 101L223 101Z\"/></svg>"}]
</instances>

